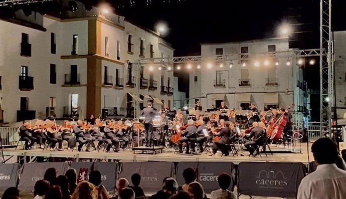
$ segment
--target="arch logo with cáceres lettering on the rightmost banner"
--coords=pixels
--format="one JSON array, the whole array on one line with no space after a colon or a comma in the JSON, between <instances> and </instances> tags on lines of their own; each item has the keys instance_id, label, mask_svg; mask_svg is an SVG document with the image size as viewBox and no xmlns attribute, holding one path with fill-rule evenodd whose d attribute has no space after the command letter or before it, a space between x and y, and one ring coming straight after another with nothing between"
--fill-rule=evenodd
<instances>
[{"instance_id":1,"label":"arch logo with c\u00e1ceres lettering on the rightmost banner","mask_svg":"<svg viewBox=\"0 0 346 199\"><path fill-rule=\"evenodd\" d=\"M256 177L256 184L260 188L284 188L288 185L287 177L282 171L261 170Z\"/></svg>"}]
</instances>

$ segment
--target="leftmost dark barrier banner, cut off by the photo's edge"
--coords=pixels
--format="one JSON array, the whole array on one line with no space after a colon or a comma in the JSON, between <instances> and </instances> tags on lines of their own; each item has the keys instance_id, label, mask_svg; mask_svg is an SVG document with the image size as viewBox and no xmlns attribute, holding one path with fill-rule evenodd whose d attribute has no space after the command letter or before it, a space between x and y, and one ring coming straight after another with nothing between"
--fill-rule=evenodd
<instances>
[{"instance_id":1,"label":"leftmost dark barrier banner, cut off by the photo's edge","mask_svg":"<svg viewBox=\"0 0 346 199\"><path fill-rule=\"evenodd\" d=\"M17 186L20 164L0 164L0 189Z\"/></svg>"}]
</instances>

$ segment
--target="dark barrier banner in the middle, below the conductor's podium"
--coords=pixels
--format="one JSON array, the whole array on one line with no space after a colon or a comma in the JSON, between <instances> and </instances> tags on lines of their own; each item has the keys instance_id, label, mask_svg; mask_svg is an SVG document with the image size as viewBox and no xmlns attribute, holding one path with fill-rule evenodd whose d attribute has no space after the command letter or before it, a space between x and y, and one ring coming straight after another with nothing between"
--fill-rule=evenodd
<instances>
[{"instance_id":1,"label":"dark barrier banner in the middle, below the conductor's podium","mask_svg":"<svg viewBox=\"0 0 346 199\"><path fill-rule=\"evenodd\" d=\"M172 176L172 162L124 162L119 177L131 179L133 173L141 176L140 186L145 193L156 193L162 189L162 180Z\"/></svg>"}]
</instances>

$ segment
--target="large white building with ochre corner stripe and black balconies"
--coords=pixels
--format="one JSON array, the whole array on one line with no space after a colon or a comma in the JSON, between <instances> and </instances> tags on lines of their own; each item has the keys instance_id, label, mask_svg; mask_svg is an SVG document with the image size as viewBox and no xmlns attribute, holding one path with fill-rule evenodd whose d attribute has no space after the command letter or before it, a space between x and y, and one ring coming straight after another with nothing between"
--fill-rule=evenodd
<instances>
[{"instance_id":1,"label":"large white building with ochre corner stripe and black balconies","mask_svg":"<svg viewBox=\"0 0 346 199\"><path fill-rule=\"evenodd\" d=\"M26 22L0 21L0 112L4 112L0 121L61 118L78 112L97 116L102 109L125 115L133 101L131 63L173 55L158 34L123 17L101 16L97 8L71 15L58 19L37 13L27 18L20 10L16 16ZM141 98L150 96L156 106L163 102L172 107L173 88L160 92L161 86L174 85L172 71L151 73L148 66L143 68L141 79L150 82L142 82ZM47 114L47 107L54 111Z\"/></svg>"}]
</instances>

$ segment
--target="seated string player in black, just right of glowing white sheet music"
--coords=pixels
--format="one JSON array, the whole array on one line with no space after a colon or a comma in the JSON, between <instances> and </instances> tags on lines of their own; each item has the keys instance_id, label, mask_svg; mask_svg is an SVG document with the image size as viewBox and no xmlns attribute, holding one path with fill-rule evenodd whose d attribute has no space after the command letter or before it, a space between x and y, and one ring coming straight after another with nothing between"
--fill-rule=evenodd
<instances>
[{"instance_id":1,"label":"seated string player in black, just right of glowing white sheet music","mask_svg":"<svg viewBox=\"0 0 346 199\"><path fill-rule=\"evenodd\" d=\"M225 127L223 127L219 133L214 133L216 136L221 137L220 140L215 141L213 144L213 152L212 155L215 155L218 150L220 150L225 156L229 155L228 150L225 148L225 144L228 144L230 142L230 136L231 136L231 130L234 130L234 126L229 121L223 122Z\"/></svg>"}]
</instances>

